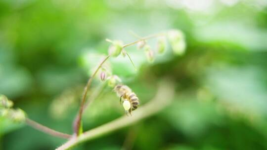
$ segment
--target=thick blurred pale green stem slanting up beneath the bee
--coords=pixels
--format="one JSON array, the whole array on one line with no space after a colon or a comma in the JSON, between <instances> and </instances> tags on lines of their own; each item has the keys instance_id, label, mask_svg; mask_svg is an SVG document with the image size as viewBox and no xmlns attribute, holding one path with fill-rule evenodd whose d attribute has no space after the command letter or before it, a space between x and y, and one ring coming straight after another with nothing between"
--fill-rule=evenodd
<instances>
[{"instance_id":1,"label":"thick blurred pale green stem slanting up beneath the bee","mask_svg":"<svg viewBox=\"0 0 267 150\"><path fill-rule=\"evenodd\" d=\"M174 98L174 82L164 80L160 82L159 89L154 99L133 112L133 116L122 116L109 123L91 129L79 137L73 137L56 150L68 150L80 143L95 139L107 133L132 125L137 121L149 117L166 108Z\"/></svg>"}]
</instances>

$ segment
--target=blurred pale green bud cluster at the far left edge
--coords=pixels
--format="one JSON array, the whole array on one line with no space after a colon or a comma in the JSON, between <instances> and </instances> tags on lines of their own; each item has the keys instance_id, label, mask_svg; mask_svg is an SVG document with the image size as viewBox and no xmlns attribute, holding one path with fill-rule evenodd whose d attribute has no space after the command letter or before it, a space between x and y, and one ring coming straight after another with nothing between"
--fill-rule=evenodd
<instances>
[{"instance_id":1,"label":"blurred pale green bud cluster at the far left edge","mask_svg":"<svg viewBox=\"0 0 267 150\"><path fill-rule=\"evenodd\" d=\"M7 117L14 122L23 122L25 112L21 109L13 109L13 102L8 100L4 95L0 95L0 117Z\"/></svg>"}]
</instances>

